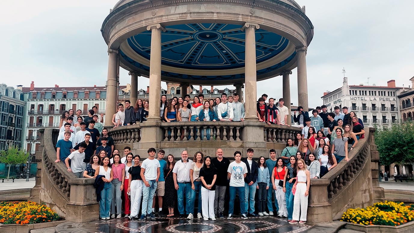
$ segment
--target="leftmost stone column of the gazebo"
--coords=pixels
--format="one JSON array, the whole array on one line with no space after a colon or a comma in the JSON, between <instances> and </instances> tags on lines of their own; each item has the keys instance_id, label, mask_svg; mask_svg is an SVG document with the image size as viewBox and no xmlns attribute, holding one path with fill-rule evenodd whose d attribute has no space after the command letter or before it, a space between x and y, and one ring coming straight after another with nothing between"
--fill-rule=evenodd
<instances>
[{"instance_id":1,"label":"leftmost stone column of the gazebo","mask_svg":"<svg viewBox=\"0 0 414 233\"><path fill-rule=\"evenodd\" d=\"M112 116L116 113L118 96L118 50L108 49L108 83L106 84L105 127L113 127Z\"/></svg>"}]
</instances>

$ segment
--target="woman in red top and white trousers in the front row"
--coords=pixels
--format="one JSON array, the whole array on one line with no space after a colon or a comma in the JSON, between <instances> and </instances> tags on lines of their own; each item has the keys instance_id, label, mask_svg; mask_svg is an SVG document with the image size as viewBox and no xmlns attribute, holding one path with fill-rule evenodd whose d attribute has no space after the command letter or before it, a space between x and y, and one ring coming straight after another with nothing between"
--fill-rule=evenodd
<instances>
[{"instance_id":1,"label":"woman in red top and white trousers in the front row","mask_svg":"<svg viewBox=\"0 0 414 233\"><path fill-rule=\"evenodd\" d=\"M277 205L279 206L279 217L288 217L286 207L286 195L283 192L283 179L286 174L286 167L284 166L283 159L277 158L276 166L272 171L272 185L277 199ZM282 184L282 185L281 185Z\"/></svg>"}]
</instances>

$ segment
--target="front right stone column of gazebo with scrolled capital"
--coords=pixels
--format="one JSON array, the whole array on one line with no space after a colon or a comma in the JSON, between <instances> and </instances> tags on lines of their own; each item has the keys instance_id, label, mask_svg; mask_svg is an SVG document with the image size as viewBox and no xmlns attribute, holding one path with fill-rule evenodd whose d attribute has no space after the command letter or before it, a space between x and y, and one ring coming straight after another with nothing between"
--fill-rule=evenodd
<instances>
[{"instance_id":1,"label":"front right stone column of gazebo with scrolled capital","mask_svg":"<svg viewBox=\"0 0 414 233\"><path fill-rule=\"evenodd\" d=\"M259 24L246 23L241 28L241 31L246 31L245 85L248 91L245 93L245 120L258 120L256 113L256 29L259 29Z\"/></svg>"}]
</instances>

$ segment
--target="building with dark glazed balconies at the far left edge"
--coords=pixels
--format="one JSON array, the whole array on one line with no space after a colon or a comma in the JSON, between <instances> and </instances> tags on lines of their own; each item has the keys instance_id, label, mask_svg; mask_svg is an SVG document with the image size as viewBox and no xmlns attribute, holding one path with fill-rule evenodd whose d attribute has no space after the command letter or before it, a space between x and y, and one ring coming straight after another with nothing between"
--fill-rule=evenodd
<instances>
[{"instance_id":1,"label":"building with dark glazed balconies at the far left edge","mask_svg":"<svg viewBox=\"0 0 414 233\"><path fill-rule=\"evenodd\" d=\"M26 101L21 88L0 84L0 150L22 147Z\"/></svg>"}]
</instances>

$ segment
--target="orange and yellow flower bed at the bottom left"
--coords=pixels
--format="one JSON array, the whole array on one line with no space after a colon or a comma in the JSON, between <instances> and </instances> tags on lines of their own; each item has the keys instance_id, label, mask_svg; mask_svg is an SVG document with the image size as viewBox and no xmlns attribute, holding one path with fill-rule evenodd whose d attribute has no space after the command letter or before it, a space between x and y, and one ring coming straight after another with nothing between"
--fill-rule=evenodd
<instances>
[{"instance_id":1,"label":"orange and yellow flower bed at the bottom left","mask_svg":"<svg viewBox=\"0 0 414 233\"><path fill-rule=\"evenodd\" d=\"M0 223L33 224L58 221L59 215L36 202L0 202Z\"/></svg>"}]
</instances>

